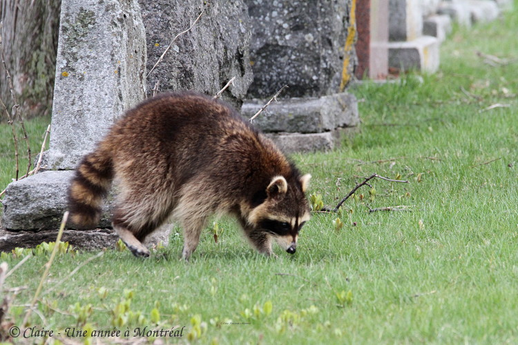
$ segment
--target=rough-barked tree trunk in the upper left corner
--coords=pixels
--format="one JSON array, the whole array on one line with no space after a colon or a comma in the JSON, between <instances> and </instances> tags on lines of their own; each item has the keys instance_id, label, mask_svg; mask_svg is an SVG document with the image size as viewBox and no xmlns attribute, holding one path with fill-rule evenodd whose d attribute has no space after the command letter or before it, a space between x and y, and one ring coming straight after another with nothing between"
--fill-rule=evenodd
<instances>
[{"instance_id":1,"label":"rough-barked tree trunk in the upper left corner","mask_svg":"<svg viewBox=\"0 0 518 345\"><path fill-rule=\"evenodd\" d=\"M61 0L0 0L1 47L23 117L52 110ZM0 66L0 98L13 106Z\"/></svg>"}]
</instances>

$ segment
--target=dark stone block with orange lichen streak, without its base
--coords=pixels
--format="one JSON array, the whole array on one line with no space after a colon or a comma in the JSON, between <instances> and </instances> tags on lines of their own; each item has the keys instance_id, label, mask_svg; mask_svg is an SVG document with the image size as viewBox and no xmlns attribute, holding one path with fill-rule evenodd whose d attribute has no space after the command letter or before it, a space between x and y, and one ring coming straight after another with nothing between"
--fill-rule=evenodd
<instances>
[{"instance_id":1,"label":"dark stone block with orange lichen streak, without its base","mask_svg":"<svg viewBox=\"0 0 518 345\"><path fill-rule=\"evenodd\" d=\"M354 1L245 2L253 27L249 98L269 98L285 85L281 97L345 88L356 66Z\"/></svg>"}]
</instances>

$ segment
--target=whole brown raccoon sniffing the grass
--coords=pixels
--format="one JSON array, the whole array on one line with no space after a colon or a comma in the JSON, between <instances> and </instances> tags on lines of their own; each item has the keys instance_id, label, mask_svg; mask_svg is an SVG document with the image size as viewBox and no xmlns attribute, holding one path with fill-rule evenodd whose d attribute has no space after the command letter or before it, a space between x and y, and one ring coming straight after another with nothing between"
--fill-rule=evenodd
<instances>
[{"instance_id":1,"label":"whole brown raccoon sniffing the grass","mask_svg":"<svg viewBox=\"0 0 518 345\"><path fill-rule=\"evenodd\" d=\"M148 256L142 240L173 217L189 259L214 213L235 215L261 253L272 253L272 238L294 253L309 177L226 103L164 93L129 110L82 159L68 199L73 223L95 226L115 179L113 228L135 255Z\"/></svg>"}]
</instances>

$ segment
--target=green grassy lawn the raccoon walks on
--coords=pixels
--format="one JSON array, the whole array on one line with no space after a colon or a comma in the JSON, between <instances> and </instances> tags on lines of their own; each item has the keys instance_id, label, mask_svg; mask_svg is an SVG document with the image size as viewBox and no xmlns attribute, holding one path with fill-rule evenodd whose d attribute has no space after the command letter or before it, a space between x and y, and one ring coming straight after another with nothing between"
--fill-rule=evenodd
<instances>
[{"instance_id":1,"label":"green grassy lawn the raccoon walks on","mask_svg":"<svg viewBox=\"0 0 518 345\"><path fill-rule=\"evenodd\" d=\"M518 58L517 28L518 10L457 28L436 74L352 88L361 133L340 150L294 156L313 175L309 194L335 206L373 173L410 184L374 179L374 199L364 186L338 214L315 213L295 255L258 255L229 219L218 221L218 244L204 233L189 263L179 260L179 229L149 259L113 249L62 254L30 324L61 333L50 344L66 328L115 328L123 337L176 325L186 326L183 337L165 342L518 343L518 61L492 66L477 55ZM31 122L37 136L47 123ZM0 159L12 155L5 127ZM5 166L3 184L14 171ZM386 206L411 211L368 212ZM2 260L12 268L27 253ZM7 288L21 287L6 291L6 319L16 326L48 257L28 258L6 279Z\"/></svg>"}]
</instances>

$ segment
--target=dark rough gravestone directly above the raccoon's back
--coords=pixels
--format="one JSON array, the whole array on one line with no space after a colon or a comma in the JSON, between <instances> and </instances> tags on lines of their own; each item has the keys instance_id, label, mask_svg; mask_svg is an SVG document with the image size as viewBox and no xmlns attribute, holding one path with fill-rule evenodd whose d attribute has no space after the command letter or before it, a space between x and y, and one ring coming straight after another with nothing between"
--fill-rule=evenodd
<instances>
[{"instance_id":1,"label":"dark rough gravestone directly above the raccoon's back","mask_svg":"<svg viewBox=\"0 0 518 345\"><path fill-rule=\"evenodd\" d=\"M151 71L173 37L186 30L204 8L205 1L139 0L146 26ZM251 37L247 6L242 0L211 1L193 28L182 34L164 60L147 79L148 94L160 81L160 91L197 90L207 95L231 79L222 98L241 106L252 81L249 46Z\"/></svg>"}]
</instances>

